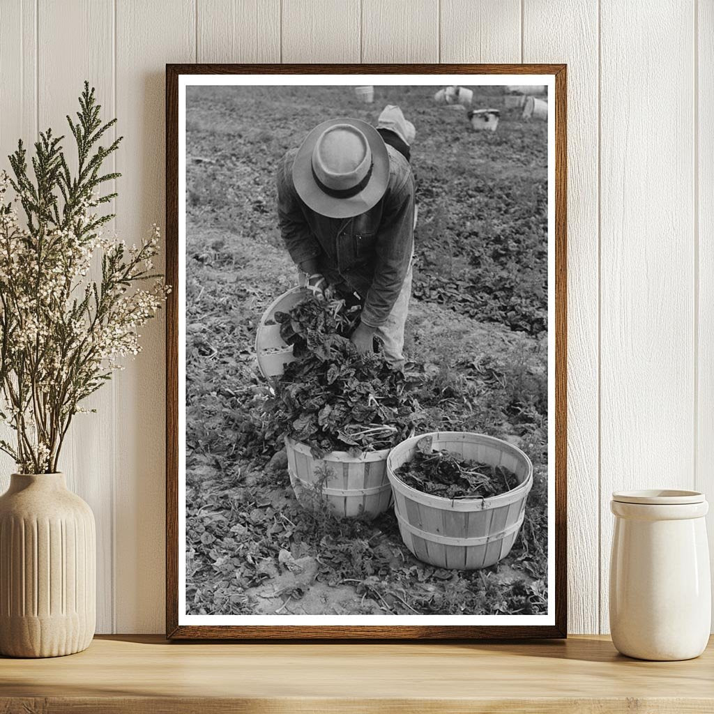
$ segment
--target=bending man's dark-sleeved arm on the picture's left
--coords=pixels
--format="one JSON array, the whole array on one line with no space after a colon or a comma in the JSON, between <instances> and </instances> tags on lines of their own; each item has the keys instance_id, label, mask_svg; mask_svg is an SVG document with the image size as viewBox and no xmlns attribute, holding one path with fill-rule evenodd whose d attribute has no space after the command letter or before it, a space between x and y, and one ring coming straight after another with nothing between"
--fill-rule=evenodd
<instances>
[{"instance_id":1,"label":"bending man's dark-sleeved arm on the picture's left","mask_svg":"<svg viewBox=\"0 0 714 714\"><path fill-rule=\"evenodd\" d=\"M313 236L293 186L295 150L288 151L278 166L278 226L293 263L303 273L317 272L319 243Z\"/></svg>"}]
</instances>

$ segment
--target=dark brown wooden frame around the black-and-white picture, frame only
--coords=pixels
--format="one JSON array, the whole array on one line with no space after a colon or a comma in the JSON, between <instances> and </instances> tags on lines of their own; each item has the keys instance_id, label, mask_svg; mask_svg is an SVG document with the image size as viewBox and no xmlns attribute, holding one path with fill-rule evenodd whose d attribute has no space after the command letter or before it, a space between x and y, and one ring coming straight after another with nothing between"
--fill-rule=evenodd
<instances>
[{"instance_id":1,"label":"dark brown wooden frame around the black-and-white picture, frame only","mask_svg":"<svg viewBox=\"0 0 714 714\"><path fill-rule=\"evenodd\" d=\"M179 618L179 79L183 75L549 75L554 78L555 122L555 540L552 623L543 625L186 625ZM453 640L564 638L566 593L566 67L564 64L167 64L166 65L166 282L174 286L166 316L166 636L174 640ZM552 275L553 273L551 273ZM549 329L553 325L549 324ZM552 473L552 472L551 472ZM552 492L551 492L552 493ZM551 543L553 541L550 541ZM553 580L551 580L553 582ZM553 603L553 600L549 600Z\"/></svg>"}]
</instances>

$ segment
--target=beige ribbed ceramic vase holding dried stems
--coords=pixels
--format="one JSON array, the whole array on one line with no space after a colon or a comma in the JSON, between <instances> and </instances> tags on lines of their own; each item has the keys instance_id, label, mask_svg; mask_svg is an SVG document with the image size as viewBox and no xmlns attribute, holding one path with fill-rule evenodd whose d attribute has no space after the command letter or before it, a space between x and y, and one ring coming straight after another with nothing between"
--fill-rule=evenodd
<instances>
[{"instance_id":1,"label":"beige ribbed ceramic vase holding dried stems","mask_svg":"<svg viewBox=\"0 0 714 714\"><path fill-rule=\"evenodd\" d=\"M95 622L91 508L62 473L14 473L0 496L0 654L80 652Z\"/></svg>"}]
</instances>

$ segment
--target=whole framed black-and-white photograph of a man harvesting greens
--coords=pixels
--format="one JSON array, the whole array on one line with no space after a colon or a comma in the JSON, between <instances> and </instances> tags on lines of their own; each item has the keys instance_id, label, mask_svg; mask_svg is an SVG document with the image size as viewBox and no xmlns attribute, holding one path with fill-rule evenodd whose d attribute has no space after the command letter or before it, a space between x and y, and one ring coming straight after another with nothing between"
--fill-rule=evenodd
<instances>
[{"instance_id":1,"label":"whole framed black-and-white photograph of a man harvesting greens","mask_svg":"<svg viewBox=\"0 0 714 714\"><path fill-rule=\"evenodd\" d=\"M566 635L564 65L167 65L169 638Z\"/></svg>"}]
</instances>

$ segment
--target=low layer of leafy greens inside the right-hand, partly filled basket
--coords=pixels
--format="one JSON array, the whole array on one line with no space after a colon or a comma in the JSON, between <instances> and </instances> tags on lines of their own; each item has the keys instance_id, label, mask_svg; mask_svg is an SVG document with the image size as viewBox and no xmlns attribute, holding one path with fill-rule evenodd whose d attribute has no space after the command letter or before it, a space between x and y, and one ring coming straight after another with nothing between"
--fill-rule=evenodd
<instances>
[{"instance_id":1,"label":"low layer of leafy greens inside the right-hand, partly filled basket","mask_svg":"<svg viewBox=\"0 0 714 714\"><path fill-rule=\"evenodd\" d=\"M450 451L432 451L431 437L417 442L414 458L396 470L407 486L442 498L491 498L518 485L503 466L459 458Z\"/></svg>"}]
</instances>

